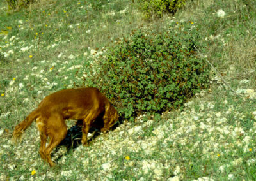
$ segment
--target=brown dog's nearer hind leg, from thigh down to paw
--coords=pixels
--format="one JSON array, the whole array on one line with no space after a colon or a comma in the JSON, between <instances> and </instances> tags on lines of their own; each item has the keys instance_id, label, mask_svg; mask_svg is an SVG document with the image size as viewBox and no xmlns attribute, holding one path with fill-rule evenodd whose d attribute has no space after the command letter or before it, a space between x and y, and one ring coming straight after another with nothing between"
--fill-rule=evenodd
<instances>
[{"instance_id":1,"label":"brown dog's nearer hind leg, from thigh down to paw","mask_svg":"<svg viewBox=\"0 0 256 181\"><path fill-rule=\"evenodd\" d=\"M67 134L67 126L63 117L58 114L51 115L47 122L46 132L50 137L49 144L45 148L46 161L50 166L54 166L55 164L51 159L51 152L57 145L59 145Z\"/></svg>"}]
</instances>

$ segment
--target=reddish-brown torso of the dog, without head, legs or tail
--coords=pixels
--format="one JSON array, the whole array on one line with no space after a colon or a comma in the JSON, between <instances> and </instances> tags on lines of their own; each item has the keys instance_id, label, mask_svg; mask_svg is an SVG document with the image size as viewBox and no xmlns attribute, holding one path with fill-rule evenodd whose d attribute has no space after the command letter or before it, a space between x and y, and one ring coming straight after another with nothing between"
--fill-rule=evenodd
<instances>
[{"instance_id":1,"label":"reddish-brown torso of the dog, without head, legs or tail","mask_svg":"<svg viewBox=\"0 0 256 181\"><path fill-rule=\"evenodd\" d=\"M108 99L94 87L64 89L46 96L38 109L42 115L48 117L53 112L58 112L64 119L84 119L92 109L104 111L109 105Z\"/></svg>"}]
</instances>

